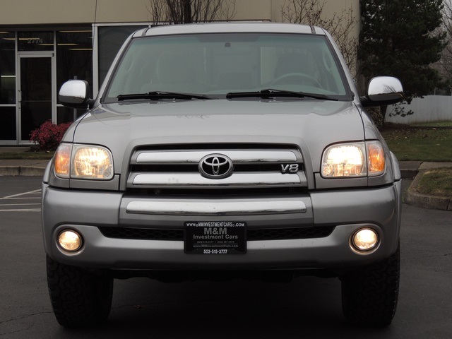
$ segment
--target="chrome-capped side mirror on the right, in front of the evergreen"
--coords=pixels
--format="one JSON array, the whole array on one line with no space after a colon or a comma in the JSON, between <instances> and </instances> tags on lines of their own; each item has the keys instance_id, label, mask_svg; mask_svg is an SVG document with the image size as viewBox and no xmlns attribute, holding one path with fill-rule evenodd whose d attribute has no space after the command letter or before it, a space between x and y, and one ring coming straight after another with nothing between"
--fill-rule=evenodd
<instances>
[{"instance_id":1,"label":"chrome-capped side mirror on the right, in front of the evergreen","mask_svg":"<svg viewBox=\"0 0 452 339\"><path fill-rule=\"evenodd\" d=\"M379 76L369 82L367 95L361 97L364 107L396 104L403 100L403 86L398 78Z\"/></svg>"}]
</instances>

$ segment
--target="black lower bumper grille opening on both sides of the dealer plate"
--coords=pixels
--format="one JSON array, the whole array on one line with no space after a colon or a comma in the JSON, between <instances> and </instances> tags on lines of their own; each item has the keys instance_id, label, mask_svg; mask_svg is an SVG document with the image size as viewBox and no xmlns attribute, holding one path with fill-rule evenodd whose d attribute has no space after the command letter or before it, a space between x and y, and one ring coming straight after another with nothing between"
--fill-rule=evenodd
<instances>
[{"instance_id":1,"label":"black lower bumper grille opening on both sides of the dealer plate","mask_svg":"<svg viewBox=\"0 0 452 339\"><path fill-rule=\"evenodd\" d=\"M287 239L314 239L328 237L334 230L331 227L290 227L265 228L246 230L248 241L257 240L287 240ZM159 230L124 227L99 227L100 232L107 238L114 239L141 239L141 240L172 240L183 241L184 230Z\"/></svg>"}]
</instances>

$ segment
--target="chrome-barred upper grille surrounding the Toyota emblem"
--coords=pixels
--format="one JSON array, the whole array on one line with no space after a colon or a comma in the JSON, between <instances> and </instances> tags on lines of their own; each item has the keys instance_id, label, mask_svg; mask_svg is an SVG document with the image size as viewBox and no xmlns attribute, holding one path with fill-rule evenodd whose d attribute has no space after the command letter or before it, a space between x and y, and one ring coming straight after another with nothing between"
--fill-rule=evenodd
<instances>
[{"instance_id":1,"label":"chrome-barred upper grille surrounding the Toyota emblem","mask_svg":"<svg viewBox=\"0 0 452 339\"><path fill-rule=\"evenodd\" d=\"M127 189L278 189L307 186L302 155L297 148L140 149L131 157ZM210 154L229 157L230 177L203 177L198 164ZM297 164L297 172L285 172Z\"/></svg>"}]
</instances>

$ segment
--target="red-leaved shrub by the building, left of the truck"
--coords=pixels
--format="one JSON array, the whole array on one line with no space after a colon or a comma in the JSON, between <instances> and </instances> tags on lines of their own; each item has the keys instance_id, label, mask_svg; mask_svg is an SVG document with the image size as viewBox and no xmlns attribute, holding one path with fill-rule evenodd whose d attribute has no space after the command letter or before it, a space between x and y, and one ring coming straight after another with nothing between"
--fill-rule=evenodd
<instances>
[{"instance_id":1,"label":"red-leaved shrub by the building, left of the truck","mask_svg":"<svg viewBox=\"0 0 452 339\"><path fill-rule=\"evenodd\" d=\"M30 141L40 146L41 150L56 150L66 130L71 126L67 124L52 124L52 121L45 121L38 129L30 133Z\"/></svg>"}]
</instances>

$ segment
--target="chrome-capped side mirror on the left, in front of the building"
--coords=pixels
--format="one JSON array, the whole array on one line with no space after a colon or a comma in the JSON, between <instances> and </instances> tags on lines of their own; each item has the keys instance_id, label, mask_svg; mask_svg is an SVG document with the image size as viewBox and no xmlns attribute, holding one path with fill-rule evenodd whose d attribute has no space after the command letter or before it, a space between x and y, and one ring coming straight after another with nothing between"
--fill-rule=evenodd
<instances>
[{"instance_id":1,"label":"chrome-capped side mirror on the left, in front of the building","mask_svg":"<svg viewBox=\"0 0 452 339\"><path fill-rule=\"evenodd\" d=\"M84 80L70 80L64 83L58 94L59 102L69 108L87 109L93 104L90 100L90 85Z\"/></svg>"}]
</instances>

